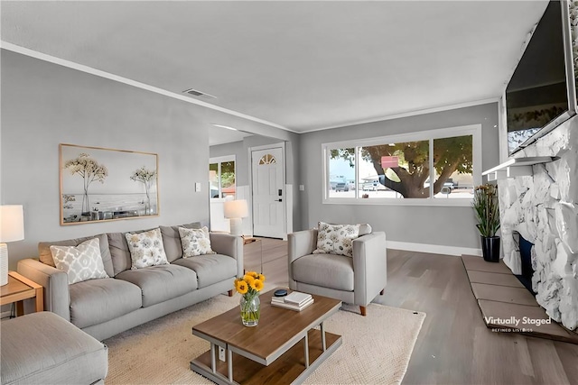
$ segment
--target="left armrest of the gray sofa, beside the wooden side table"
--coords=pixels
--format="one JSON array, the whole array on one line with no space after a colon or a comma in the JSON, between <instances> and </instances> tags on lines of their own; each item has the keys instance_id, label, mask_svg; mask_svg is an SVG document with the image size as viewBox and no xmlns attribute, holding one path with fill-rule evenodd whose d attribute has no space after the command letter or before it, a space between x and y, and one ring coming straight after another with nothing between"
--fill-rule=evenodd
<instances>
[{"instance_id":1,"label":"left armrest of the gray sofa, beside the wooden side table","mask_svg":"<svg viewBox=\"0 0 578 385\"><path fill-rule=\"evenodd\" d=\"M18 261L16 270L29 280L42 285L44 310L70 321L69 278L66 272L32 258Z\"/></svg>"}]
</instances>

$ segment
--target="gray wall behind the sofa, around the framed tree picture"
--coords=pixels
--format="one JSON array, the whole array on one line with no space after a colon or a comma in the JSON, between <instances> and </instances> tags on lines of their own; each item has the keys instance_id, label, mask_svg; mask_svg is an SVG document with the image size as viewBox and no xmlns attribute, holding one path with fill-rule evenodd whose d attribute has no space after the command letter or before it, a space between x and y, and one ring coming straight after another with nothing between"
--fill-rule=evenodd
<instances>
[{"instance_id":1,"label":"gray wall behind the sofa, around the framed tree picture","mask_svg":"<svg viewBox=\"0 0 578 385\"><path fill-rule=\"evenodd\" d=\"M8 245L11 270L17 261L37 256L40 241L208 224L211 123L296 140L294 133L9 50L2 50L1 60L0 203L23 205L25 226L24 241ZM61 226L59 143L157 153L161 215Z\"/></svg>"}]
</instances>

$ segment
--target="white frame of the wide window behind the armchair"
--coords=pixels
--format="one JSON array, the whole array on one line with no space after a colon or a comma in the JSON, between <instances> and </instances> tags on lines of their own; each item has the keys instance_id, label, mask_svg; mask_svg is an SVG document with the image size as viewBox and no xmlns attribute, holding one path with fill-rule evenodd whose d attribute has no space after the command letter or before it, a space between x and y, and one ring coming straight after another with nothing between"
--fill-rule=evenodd
<instances>
[{"instance_id":1,"label":"white frame of the wide window behind the armchair","mask_svg":"<svg viewBox=\"0 0 578 385\"><path fill-rule=\"evenodd\" d=\"M461 125L433 130L417 131L413 133L398 133L387 136L356 139L341 142L322 143L322 204L329 205L401 205L401 206L471 206L471 199L455 198L442 199L433 197L433 183L430 183L430 197L400 199L395 197L359 197L359 147L367 147L384 143L429 141L430 154L433 153L433 140L454 136L472 136L472 170L473 185L481 184L481 124ZM355 148L355 197L329 197L330 190L330 151L343 148ZM429 157L430 179L433 180L433 157Z\"/></svg>"}]
</instances>

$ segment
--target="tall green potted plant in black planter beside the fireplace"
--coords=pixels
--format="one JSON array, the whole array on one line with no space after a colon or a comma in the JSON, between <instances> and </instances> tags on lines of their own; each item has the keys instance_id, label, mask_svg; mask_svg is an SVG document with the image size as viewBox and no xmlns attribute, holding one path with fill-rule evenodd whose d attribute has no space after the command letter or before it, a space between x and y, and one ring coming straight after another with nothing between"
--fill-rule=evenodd
<instances>
[{"instance_id":1,"label":"tall green potted plant in black planter beside the fireplace","mask_svg":"<svg viewBox=\"0 0 578 385\"><path fill-rule=\"evenodd\" d=\"M498 187L485 184L474 189L472 206L481 237L481 250L486 261L499 261L499 200Z\"/></svg>"}]
</instances>

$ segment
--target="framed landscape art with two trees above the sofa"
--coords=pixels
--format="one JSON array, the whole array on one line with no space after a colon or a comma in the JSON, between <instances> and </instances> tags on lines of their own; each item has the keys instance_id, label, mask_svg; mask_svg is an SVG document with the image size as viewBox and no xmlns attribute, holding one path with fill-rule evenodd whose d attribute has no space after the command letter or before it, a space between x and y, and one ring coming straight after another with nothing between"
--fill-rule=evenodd
<instances>
[{"instance_id":1,"label":"framed landscape art with two trees above the sofa","mask_svg":"<svg viewBox=\"0 0 578 385\"><path fill-rule=\"evenodd\" d=\"M63 144L61 225L159 215L158 155Z\"/></svg>"}]
</instances>

